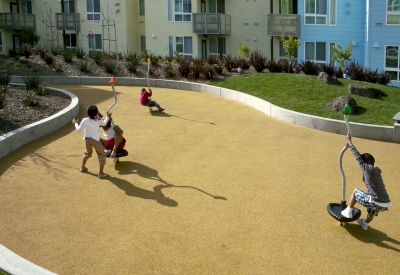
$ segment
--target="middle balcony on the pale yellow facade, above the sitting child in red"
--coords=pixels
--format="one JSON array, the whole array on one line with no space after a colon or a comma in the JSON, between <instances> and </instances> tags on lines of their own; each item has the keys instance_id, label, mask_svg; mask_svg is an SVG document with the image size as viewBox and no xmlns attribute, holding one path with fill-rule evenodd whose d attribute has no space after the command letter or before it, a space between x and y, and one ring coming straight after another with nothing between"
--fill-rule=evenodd
<instances>
[{"instance_id":1,"label":"middle balcony on the pale yellow facade, above the sitting child in red","mask_svg":"<svg viewBox=\"0 0 400 275\"><path fill-rule=\"evenodd\" d=\"M223 13L193 13L193 33L231 34L231 16Z\"/></svg>"}]
</instances>

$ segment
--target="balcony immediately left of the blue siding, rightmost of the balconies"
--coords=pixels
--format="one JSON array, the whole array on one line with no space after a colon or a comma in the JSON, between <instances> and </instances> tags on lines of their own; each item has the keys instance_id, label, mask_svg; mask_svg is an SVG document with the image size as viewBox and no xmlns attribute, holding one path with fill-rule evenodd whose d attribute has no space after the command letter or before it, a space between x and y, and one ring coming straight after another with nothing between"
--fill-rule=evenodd
<instances>
[{"instance_id":1,"label":"balcony immediately left of the blue siding, rightmost of the balconies","mask_svg":"<svg viewBox=\"0 0 400 275\"><path fill-rule=\"evenodd\" d=\"M271 36L300 36L300 15L267 14L267 34Z\"/></svg>"}]
</instances>

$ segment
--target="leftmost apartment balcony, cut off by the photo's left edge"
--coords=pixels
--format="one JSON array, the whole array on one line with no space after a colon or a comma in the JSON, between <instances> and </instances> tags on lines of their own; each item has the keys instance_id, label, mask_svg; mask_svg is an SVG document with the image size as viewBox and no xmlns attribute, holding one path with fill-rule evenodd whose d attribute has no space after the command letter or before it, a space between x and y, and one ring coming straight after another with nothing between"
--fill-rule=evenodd
<instances>
[{"instance_id":1,"label":"leftmost apartment balcony, cut off by the photo's left edge","mask_svg":"<svg viewBox=\"0 0 400 275\"><path fill-rule=\"evenodd\" d=\"M36 15L27 13L0 13L0 29L36 30Z\"/></svg>"}]
</instances>

